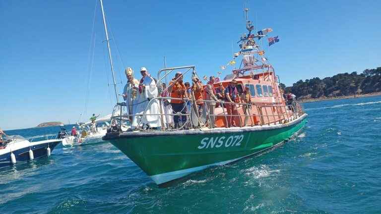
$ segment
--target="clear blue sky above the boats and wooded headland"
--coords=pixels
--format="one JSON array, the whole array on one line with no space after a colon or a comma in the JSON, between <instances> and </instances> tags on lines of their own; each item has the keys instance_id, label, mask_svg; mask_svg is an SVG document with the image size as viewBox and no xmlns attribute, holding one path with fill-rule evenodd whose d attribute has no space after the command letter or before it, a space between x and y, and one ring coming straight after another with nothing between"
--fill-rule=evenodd
<instances>
[{"instance_id":1,"label":"clear blue sky above the boats and wooded headland","mask_svg":"<svg viewBox=\"0 0 381 214\"><path fill-rule=\"evenodd\" d=\"M0 0L1 128L79 119L87 91L95 2ZM246 32L243 3L104 0L124 62L113 44L118 81L126 83L124 66L135 71L145 66L156 74L163 55L168 66L195 65L199 74L216 74L231 58L232 41ZM381 66L381 1L249 3L257 30L271 27L270 36L280 38L265 51L286 85ZM95 35L86 119L93 112L111 113L115 104L98 1ZM123 85L118 87L121 93Z\"/></svg>"}]
</instances>

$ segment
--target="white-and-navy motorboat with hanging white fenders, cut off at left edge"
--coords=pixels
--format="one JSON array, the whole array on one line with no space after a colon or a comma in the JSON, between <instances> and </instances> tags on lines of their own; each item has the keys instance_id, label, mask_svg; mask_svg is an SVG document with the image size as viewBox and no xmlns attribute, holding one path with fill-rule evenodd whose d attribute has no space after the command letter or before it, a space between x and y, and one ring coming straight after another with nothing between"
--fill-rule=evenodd
<instances>
[{"instance_id":1,"label":"white-and-navy motorboat with hanging white fenders, cut off at left edge","mask_svg":"<svg viewBox=\"0 0 381 214\"><path fill-rule=\"evenodd\" d=\"M20 135L6 138L6 143L0 147L0 167L9 166L22 161L39 159L50 156L54 148L63 139L56 139L57 135L44 135L26 139ZM33 139L46 138L47 140L33 142ZM55 139L48 139L49 137Z\"/></svg>"}]
</instances>

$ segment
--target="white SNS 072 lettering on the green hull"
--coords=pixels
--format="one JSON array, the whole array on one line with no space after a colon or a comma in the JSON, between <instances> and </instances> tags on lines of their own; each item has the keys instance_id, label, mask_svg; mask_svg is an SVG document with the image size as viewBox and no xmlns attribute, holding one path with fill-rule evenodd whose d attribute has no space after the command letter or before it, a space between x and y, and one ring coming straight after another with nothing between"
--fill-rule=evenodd
<instances>
[{"instance_id":1,"label":"white SNS 072 lettering on the green hull","mask_svg":"<svg viewBox=\"0 0 381 214\"><path fill-rule=\"evenodd\" d=\"M224 147L241 146L241 142L244 140L244 135L232 135L226 138L222 137L205 137L200 141L200 145L197 149L213 149Z\"/></svg>"}]
</instances>

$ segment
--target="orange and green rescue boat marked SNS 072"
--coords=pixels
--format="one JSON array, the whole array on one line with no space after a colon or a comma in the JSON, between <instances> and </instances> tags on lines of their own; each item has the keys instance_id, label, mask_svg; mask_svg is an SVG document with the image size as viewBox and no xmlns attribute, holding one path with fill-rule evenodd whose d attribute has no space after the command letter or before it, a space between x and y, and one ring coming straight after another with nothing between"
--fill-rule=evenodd
<instances>
[{"instance_id":1,"label":"orange and green rescue boat marked SNS 072","mask_svg":"<svg viewBox=\"0 0 381 214\"><path fill-rule=\"evenodd\" d=\"M248 12L248 9L245 11ZM103 140L111 142L126 154L156 184L164 184L211 166L258 155L290 139L303 128L308 115L299 103L286 104L279 86L279 78L255 42L255 39L264 36L263 32L253 33L254 27L248 19L246 28L249 33L241 37L240 51L233 56L233 60L242 57L240 68L233 69L232 74L215 82L214 86L218 87L222 83L227 87L234 79L238 83L238 93L241 94L246 87L249 88L251 102L220 102L219 107L215 108L215 126L211 127L206 125L201 115L195 113L195 100L184 98L184 102L191 103L190 112L166 114L160 109L158 115L162 117L161 121L164 121L166 116L174 115L189 118L186 124L176 129L165 127L164 124L159 129L139 125L136 129L124 129L124 121L136 115L120 113L114 116L115 111L122 111L125 105L117 104L112 117L113 126L108 129ZM168 75L174 76L179 70L183 70L184 76L196 75L194 66L161 69L157 74L160 92L166 90L161 87L165 78ZM148 106L155 100L159 100L160 105L163 105L164 101L169 99L171 98L157 97L150 100ZM237 107L238 114L228 115L225 105ZM244 112L244 109L249 110ZM143 117L147 116L145 113L146 111ZM230 116L235 118L237 127L229 127L227 120ZM207 118L211 123L210 115L206 115L206 121ZM246 122L245 118L248 118Z\"/></svg>"}]
</instances>

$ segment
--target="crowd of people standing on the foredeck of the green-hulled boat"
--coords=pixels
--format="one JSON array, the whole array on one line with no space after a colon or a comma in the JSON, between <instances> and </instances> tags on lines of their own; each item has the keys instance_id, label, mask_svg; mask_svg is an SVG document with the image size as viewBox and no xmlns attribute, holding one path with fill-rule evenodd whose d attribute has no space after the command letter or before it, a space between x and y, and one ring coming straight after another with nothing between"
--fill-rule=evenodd
<instances>
[{"instance_id":1,"label":"crowd of people standing on the foredeck of the green-hulled boat","mask_svg":"<svg viewBox=\"0 0 381 214\"><path fill-rule=\"evenodd\" d=\"M141 79L134 78L132 68L125 70L127 84L124 88L123 98L126 101L126 114L131 122L131 128L158 129L184 128L191 119L193 126L215 127L215 108L226 108L227 123L229 127L237 126L237 105L234 103L250 103L250 90L246 88L242 95L236 88L237 81L233 79L225 88L222 83L214 86L215 77L210 76L206 85L203 85L197 75L193 75L190 82L184 82L184 76L177 72L167 84L162 83L159 94L156 79L145 67L140 68ZM168 99L158 100L156 97ZM151 101L151 102L150 102ZM194 102L191 102L194 101ZM207 101L207 102L205 102ZM162 102L162 105L160 105ZM249 106L249 105L248 105ZM192 110L193 109L193 110ZM244 107L245 124L249 117L250 107ZM191 115L191 117L186 116ZM163 121L161 121L163 120Z\"/></svg>"}]
</instances>

